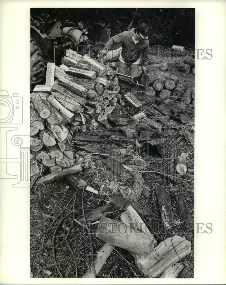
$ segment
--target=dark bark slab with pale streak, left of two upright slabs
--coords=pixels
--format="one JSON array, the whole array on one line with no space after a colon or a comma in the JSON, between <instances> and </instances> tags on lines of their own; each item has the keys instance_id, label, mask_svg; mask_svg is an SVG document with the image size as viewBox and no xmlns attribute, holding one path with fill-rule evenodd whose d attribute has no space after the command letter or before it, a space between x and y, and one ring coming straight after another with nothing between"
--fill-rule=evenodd
<instances>
[{"instance_id":1,"label":"dark bark slab with pale streak, left of two upright slabs","mask_svg":"<svg viewBox=\"0 0 226 285\"><path fill-rule=\"evenodd\" d=\"M155 192L158 198L162 223L166 229L169 229L174 225L170 195L168 194L168 192L164 187L159 187L159 188L156 187Z\"/></svg>"}]
</instances>

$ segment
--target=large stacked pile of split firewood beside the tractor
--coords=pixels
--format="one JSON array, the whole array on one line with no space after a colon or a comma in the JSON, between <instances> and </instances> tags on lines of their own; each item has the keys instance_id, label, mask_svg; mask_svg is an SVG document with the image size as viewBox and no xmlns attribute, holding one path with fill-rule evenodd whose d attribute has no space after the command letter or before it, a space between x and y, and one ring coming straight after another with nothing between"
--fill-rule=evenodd
<instances>
[{"instance_id":1,"label":"large stacked pile of split firewood beside the tractor","mask_svg":"<svg viewBox=\"0 0 226 285\"><path fill-rule=\"evenodd\" d=\"M63 168L68 170L78 164L79 158L70 143L72 135L96 129L98 122L106 125L107 114L113 111L120 96L119 89L115 71L72 50L66 51L60 67L48 63L46 84L36 85L30 96L34 180L41 165L50 167L52 178Z\"/></svg>"}]
</instances>

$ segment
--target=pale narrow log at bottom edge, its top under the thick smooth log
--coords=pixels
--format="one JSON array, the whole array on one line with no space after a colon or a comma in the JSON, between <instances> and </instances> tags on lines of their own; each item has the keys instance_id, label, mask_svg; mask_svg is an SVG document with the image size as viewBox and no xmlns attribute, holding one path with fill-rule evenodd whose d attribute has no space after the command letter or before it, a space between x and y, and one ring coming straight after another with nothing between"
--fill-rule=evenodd
<instances>
[{"instance_id":1,"label":"pale narrow log at bottom edge, its top under the thick smooth log","mask_svg":"<svg viewBox=\"0 0 226 285\"><path fill-rule=\"evenodd\" d=\"M105 243L97 252L94 260L94 270L92 264L89 266L89 269L85 272L84 276L82 278L96 278L98 274L100 273L102 267L104 266L105 262L107 261L107 258L111 255L112 251L114 249L113 245L109 245L108 243Z\"/></svg>"}]
</instances>

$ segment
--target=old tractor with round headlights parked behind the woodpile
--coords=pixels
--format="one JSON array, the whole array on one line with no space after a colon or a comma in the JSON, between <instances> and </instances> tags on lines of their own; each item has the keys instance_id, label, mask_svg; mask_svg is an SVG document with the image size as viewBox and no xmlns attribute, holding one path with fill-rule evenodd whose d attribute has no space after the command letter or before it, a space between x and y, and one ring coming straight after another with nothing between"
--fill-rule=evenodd
<instances>
[{"instance_id":1,"label":"old tractor with round headlights parked behind the woodpile","mask_svg":"<svg viewBox=\"0 0 226 285\"><path fill-rule=\"evenodd\" d=\"M44 82L47 62L60 65L66 50L72 50L91 58L96 57L93 43L87 37L82 22L75 27L72 22L50 20L49 15L30 16L30 90Z\"/></svg>"}]
</instances>

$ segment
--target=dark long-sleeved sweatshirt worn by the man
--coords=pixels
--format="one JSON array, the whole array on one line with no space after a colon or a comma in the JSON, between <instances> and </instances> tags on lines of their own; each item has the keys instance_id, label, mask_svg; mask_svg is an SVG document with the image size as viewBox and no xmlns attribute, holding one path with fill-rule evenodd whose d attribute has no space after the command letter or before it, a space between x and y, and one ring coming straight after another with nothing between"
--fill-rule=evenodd
<instances>
[{"instance_id":1,"label":"dark long-sleeved sweatshirt worn by the man","mask_svg":"<svg viewBox=\"0 0 226 285\"><path fill-rule=\"evenodd\" d=\"M132 40L134 30L135 28L132 28L129 31L125 31L111 37L105 45L105 48L110 49L113 44L122 43L121 57L126 63L133 64L140 58L141 55L141 64L147 65L148 60L146 58L146 54L149 48L149 41L142 40L141 42L135 44Z\"/></svg>"}]
</instances>

